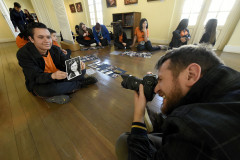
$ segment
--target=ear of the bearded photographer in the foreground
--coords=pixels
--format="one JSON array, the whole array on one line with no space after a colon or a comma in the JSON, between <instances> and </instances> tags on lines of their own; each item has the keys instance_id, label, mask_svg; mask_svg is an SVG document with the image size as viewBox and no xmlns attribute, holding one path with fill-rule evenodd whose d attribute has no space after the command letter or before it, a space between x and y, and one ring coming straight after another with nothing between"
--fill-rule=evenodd
<instances>
[{"instance_id":1,"label":"ear of the bearded photographer in the foreground","mask_svg":"<svg viewBox=\"0 0 240 160\"><path fill-rule=\"evenodd\" d=\"M197 63L191 63L187 69L187 86L193 86L201 78L201 66Z\"/></svg>"}]
</instances>

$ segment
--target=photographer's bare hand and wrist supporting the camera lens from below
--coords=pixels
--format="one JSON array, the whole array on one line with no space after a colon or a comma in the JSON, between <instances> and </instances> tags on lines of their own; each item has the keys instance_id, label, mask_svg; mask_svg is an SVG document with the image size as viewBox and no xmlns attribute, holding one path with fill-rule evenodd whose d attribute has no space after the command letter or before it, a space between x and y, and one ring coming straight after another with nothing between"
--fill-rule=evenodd
<instances>
[{"instance_id":1,"label":"photographer's bare hand and wrist supporting the camera lens from below","mask_svg":"<svg viewBox=\"0 0 240 160\"><path fill-rule=\"evenodd\" d=\"M147 100L144 95L143 85L139 85L139 93L135 91L134 96L134 116L133 122L144 123L144 114L146 108Z\"/></svg>"}]
</instances>

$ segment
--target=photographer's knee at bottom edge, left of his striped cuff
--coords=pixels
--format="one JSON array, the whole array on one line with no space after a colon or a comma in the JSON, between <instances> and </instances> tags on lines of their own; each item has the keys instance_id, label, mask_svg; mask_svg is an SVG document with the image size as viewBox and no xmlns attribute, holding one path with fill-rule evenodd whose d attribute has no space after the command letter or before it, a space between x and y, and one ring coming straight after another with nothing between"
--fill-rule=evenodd
<instances>
[{"instance_id":1,"label":"photographer's knee at bottom edge, left of his striped cuff","mask_svg":"<svg viewBox=\"0 0 240 160\"><path fill-rule=\"evenodd\" d=\"M127 145L127 139L130 135L129 132L123 133L118 137L118 140L116 142L116 155L118 157L118 160L127 160L128 158L128 145Z\"/></svg>"}]
</instances>

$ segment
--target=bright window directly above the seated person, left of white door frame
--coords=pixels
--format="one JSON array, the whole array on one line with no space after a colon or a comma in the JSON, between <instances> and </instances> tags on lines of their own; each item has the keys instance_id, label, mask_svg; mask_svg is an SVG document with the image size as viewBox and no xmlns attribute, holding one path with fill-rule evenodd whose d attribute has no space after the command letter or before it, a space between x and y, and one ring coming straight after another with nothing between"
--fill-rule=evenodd
<instances>
[{"instance_id":1,"label":"bright window directly above the seated person, left of white door frame","mask_svg":"<svg viewBox=\"0 0 240 160\"><path fill-rule=\"evenodd\" d=\"M185 0L181 19L189 19L188 25L194 26L197 23L203 0Z\"/></svg>"}]
</instances>

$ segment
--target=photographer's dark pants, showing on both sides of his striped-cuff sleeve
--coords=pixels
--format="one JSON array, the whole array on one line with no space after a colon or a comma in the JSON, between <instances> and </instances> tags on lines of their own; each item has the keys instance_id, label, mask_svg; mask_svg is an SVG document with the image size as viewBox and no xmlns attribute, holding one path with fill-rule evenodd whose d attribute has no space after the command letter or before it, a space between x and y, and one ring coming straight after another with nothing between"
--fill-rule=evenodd
<instances>
[{"instance_id":1,"label":"photographer's dark pants, showing on both sides of his striped-cuff sleeve","mask_svg":"<svg viewBox=\"0 0 240 160\"><path fill-rule=\"evenodd\" d=\"M128 144L127 139L130 135L129 132L123 133L119 136L116 142L116 155L118 160L128 160ZM162 134L148 134L148 138L153 142L154 147L158 150L162 145Z\"/></svg>"}]
</instances>

